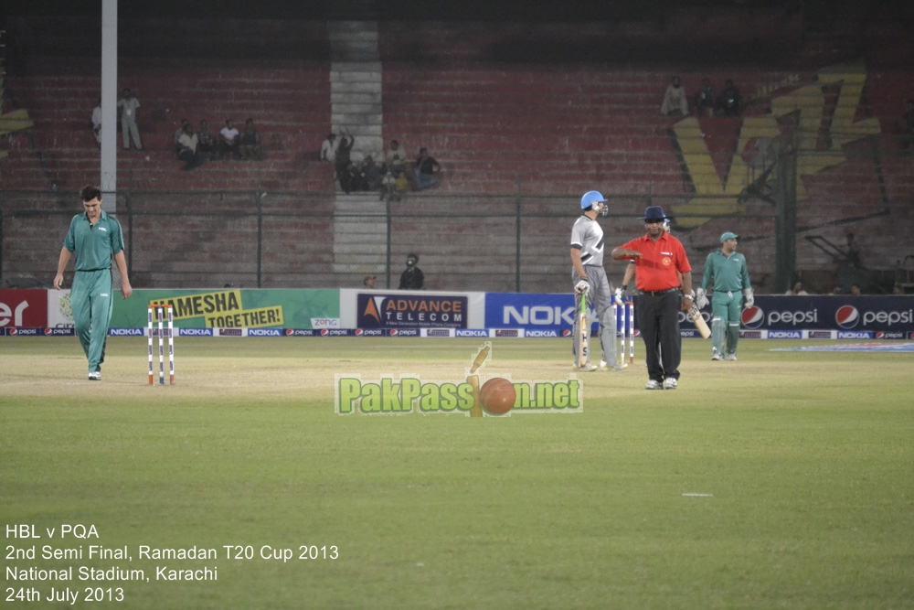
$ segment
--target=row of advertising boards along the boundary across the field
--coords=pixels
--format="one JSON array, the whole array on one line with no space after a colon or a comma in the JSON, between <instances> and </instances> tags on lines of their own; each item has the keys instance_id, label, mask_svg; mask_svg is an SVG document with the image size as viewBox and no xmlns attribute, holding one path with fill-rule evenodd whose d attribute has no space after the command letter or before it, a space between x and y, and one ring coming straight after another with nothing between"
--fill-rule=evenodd
<instances>
[{"instance_id":1,"label":"row of advertising boards along the boundary across the field","mask_svg":"<svg viewBox=\"0 0 914 610\"><path fill-rule=\"evenodd\" d=\"M109 333L141 337L148 305L159 303L172 305L179 337L569 337L575 312L571 294L227 288L114 299ZM634 303L637 326L637 296ZM710 307L702 316L710 321ZM679 317L683 337L700 337ZM69 290L0 290L0 336L72 329ZM740 336L914 339L914 295L758 295L743 310Z\"/></svg>"}]
</instances>

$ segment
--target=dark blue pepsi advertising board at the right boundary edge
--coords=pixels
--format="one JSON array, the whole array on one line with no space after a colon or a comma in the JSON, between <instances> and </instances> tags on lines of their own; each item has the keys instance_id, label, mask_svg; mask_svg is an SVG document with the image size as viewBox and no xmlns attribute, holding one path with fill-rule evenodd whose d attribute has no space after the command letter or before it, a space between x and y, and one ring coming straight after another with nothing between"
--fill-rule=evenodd
<instances>
[{"instance_id":1,"label":"dark blue pepsi advertising board at the right boundary edge","mask_svg":"<svg viewBox=\"0 0 914 610\"><path fill-rule=\"evenodd\" d=\"M710 306L702 310L707 321L710 312ZM683 318L683 328L695 327ZM914 331L914 296L756 296L755 305L743 310L741 323L744 331L770 331L770 338L789 338L800 330L836 330L842 334L838 338L852 338L854 333L859 338L866 333L904 338Z\"/></svg>"}]
</instances>

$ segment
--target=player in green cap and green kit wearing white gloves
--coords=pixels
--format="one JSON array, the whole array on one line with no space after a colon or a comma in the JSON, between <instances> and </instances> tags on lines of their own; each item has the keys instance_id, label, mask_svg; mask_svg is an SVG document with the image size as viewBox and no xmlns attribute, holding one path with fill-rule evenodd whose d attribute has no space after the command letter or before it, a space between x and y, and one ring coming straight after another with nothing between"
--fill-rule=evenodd
<instances>
[{"instance_id":1,"label":"player in green cap and green kit wearing white gloves","mask_svg":"<svg viewBox=\"0 0 914 610\"><path fill-rule=\"evenodd\" d=\"M720 249L707 255L705 275L696 293L695 304L699 309L707 305L707 285L713 280L711 294L711 359L737 359L739 323L742 315L743 296L746 306L755 303L746 257L737 251L739 235L726 232L720 236ZM726 337L726 346L725 346ZM726 349L725 349L726 348Z\"/></svg>"}]
</instances>

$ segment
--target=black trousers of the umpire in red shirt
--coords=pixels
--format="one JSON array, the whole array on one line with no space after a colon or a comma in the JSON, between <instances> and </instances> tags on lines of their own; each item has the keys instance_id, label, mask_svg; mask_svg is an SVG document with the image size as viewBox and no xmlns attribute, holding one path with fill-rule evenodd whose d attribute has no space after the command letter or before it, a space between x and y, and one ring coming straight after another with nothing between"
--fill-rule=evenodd
<instances>
[{"instance_id":1,"label":"black trousers of the umpire in red shirt","mask_svg":"<svg viewBox=\"0 0 914 610\"><path fill-rule=\"evenodd\" d=\"M635 297L635 316L644 339L647 374L652 380L679 379L679 361L682 358L682 336L679 334L681 298L678 290Z\"/></svg>"}]
</instances>

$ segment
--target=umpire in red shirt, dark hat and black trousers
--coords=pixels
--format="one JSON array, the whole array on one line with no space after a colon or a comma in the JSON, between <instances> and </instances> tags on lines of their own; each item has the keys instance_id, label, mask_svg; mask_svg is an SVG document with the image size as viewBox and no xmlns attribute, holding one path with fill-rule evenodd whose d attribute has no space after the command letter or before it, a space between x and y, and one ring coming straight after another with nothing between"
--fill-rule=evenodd
<instances>
[{"instance_id":1,"label":"umpire in red shirt, dark hat and black trousers","mask_svg":"<svg viewBox=\"0 0 914 610\"><path fill-rule=\"evenodd\" d=\"M644 221L647 234L612 251L613 260L634 261L635 284L642 292L637 297L635 311L650 377L645 390L675 390L679 385L682 357L679 310L688 311L695 298L692 266L682 242L664 231L665 219L660 206L645 209L639 220ZM682 286L679 273L682 273Z\"/></svg>"}]
</instances>

